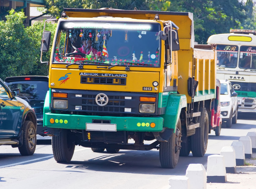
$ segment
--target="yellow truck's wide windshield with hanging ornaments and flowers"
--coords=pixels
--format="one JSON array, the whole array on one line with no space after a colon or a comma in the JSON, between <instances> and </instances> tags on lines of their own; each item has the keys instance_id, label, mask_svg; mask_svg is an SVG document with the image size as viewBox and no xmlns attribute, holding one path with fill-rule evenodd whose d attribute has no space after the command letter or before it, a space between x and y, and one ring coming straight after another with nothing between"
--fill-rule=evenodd
<instances>
[{"instance_id":1,"label":"yellow truck's wide windshield with hanging ornaments and flowers","mask_svg":"<svg viewBox=\"0 0 256 189\"><path fill-rule=\"evenodd\" d=\"M61 22L53 63L91 61L120 66L160 66L160 24ZM97 63L93 63L97 62Z\"/></svg>"}]
</instances>

